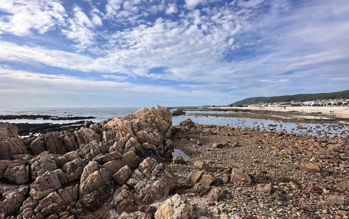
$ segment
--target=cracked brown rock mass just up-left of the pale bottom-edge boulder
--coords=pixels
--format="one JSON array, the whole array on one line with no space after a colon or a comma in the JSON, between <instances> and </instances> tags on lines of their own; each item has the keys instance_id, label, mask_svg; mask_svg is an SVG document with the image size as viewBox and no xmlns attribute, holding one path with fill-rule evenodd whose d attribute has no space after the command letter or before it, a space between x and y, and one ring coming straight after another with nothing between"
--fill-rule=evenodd
<instances>
[{"instance_id":1,"label":"cracked brown rock mass just up-left of the pale bottom-edge boulder","mask_svg":"<svg viewBox=\"0 0 349 219\"><path fill-rule=\"evenodd\" d=\"M152 204L168 195L174 188L175 181L164 164L147 158L132 173L126 185L129 189L121 190L113 201L115 211L119 214L124 211L134 212L139 206Z\"/></svg>"}]
</instances>

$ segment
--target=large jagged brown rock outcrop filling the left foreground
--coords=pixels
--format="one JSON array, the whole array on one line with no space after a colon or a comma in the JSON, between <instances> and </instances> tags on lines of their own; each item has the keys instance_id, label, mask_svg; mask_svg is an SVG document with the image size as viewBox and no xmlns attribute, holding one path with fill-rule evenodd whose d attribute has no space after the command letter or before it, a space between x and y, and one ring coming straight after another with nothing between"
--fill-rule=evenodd
<instances>
[{"instance_id":1,"label":"large jagged brown rock outcrop filling the left foreground","mask_svg":"<svg viewBox=\"0 0 349 219\"><path fill-rule=\"evenodd\" d=\"M165 107L49 132L30 143L17 130L0 123L0 219L124 217L168 198L175 187L161 163L173 152Z\"/></svg>"}]
</instances>

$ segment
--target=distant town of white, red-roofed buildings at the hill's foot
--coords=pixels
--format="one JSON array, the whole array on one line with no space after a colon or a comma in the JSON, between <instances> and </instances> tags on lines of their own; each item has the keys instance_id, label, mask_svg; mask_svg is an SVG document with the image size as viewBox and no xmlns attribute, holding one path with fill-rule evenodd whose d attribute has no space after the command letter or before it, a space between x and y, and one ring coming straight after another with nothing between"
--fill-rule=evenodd
<instances>
[{"instance_id":1,"label":"distant town of white, red-roofed buildings at the hill's foot","mask_svg":"<svg viewBox=\"0 0 349 219\"><path fill-rule=\"evenodd\" d=\"M247 104L243 106L248 107L282 107L282 106L348 106L349 99L329 99L329 100L315 100L315 101L290 101L290 102L273 102L273 103L257 103Z\"/></svg>"}]
</instances>

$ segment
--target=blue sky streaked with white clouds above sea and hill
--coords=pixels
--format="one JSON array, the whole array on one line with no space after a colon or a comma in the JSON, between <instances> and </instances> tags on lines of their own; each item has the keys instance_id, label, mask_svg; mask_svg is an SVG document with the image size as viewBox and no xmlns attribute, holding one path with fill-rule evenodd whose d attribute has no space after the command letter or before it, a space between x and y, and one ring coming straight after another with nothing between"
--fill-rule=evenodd
<instances>
[{"instance_id":1,"label":"blue sky streaked with white clouds above sea and hill","mask_svg":"<svg viewBox=\"0 0 349 219\"><path fill-rule=\"evenodd\" d=\"M349 89L348 0L0 0L2 107Z\"/></svg>"}]
</instances>

